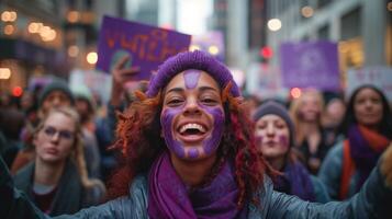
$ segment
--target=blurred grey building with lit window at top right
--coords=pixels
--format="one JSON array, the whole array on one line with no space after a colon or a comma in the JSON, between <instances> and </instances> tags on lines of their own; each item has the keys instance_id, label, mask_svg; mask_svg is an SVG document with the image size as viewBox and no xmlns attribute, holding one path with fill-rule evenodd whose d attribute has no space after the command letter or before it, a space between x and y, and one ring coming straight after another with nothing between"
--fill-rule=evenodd
<instances>
[{"instance_id":1,"label":"blurred grey building with lit window at top right","mask_svg":"<svg viewBox=\"0 0 392 219\"><path fill-rule=\"evenodd\" d=\"M265 0L266 45L277 64L282 42L338 42L340 69L392 65L390 0Z\"/></svg>"}]
</instances>

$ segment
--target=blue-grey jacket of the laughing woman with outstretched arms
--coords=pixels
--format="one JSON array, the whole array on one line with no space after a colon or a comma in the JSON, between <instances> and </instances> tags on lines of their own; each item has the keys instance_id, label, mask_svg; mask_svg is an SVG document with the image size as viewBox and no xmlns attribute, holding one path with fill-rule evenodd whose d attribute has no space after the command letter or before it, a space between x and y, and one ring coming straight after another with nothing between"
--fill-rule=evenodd
<instances>
[{"instance_id":1,"label":"blue-grey jacket of the laughing woman with outstretched arms","mask_svg":"<svg viewBox=\"0 0 392 219\"><path fill-rule=\"evenodd\" d=\"M0 159L1 161L1 159ZM45 218L44 214L32 205L26 197L14 189L12 180L7 174L3 162L0 162L1 216L9 218ZM249 205L248 218L388 218L392 214L392 189L384 185L379 168L374 169L360 193L348 201L314 204L303 201L295 196L273 192L272 183L266 177L258 194L260 207ZM116 198L100 206L83 209L72 216L57 218L148 218L148 183L145 175L137 176L130 188L130 195ZM24 207L21 212L20 208Z\"/></svg>"}]
</instances>

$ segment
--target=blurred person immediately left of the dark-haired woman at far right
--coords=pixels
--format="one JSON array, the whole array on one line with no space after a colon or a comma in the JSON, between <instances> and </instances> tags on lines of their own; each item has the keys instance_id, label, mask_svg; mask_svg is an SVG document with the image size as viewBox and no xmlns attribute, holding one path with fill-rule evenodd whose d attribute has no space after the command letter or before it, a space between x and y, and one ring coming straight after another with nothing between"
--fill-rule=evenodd
<instances>
[{"instance_id":1,"label":"blurred person immediately left of the dark-haired woman at far right","mask_svg":"<svg viewBox=\"0 0 392 219\"><path fill-rule=\"evenodd\" d=\"M325 132L325 143L333 146L341 135L338 132L338 127L345 116L346 103L339 96L334 96L325 104L323 113L323 129Z\"/></svg>"}]
</instances>

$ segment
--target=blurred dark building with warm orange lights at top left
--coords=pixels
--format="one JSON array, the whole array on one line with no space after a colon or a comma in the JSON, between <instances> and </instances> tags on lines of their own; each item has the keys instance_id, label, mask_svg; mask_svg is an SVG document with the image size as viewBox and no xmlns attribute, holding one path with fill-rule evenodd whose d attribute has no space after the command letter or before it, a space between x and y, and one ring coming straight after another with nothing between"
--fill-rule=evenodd
<instances>
[{"instance_id":1,"label":"blurred dark building with warm orange lights at top left","mask_svg":"<svg viewBox=\"0 0 392 219\"><path fill-rule=\"evenodd\" d=\"M0 2L0 91L32 78L68 78L92 69L103 14L123 16L125 0L4 0Z\"/></svg>"}]
</instances>

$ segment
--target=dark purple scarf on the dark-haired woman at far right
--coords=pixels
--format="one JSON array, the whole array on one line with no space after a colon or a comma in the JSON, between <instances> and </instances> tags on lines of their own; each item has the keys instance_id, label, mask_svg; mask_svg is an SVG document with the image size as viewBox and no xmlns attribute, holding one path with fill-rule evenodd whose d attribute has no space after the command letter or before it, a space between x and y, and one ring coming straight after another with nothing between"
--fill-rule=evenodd
<instances>
[{"instance_id":1,"label":"dark purple scarf on the dark-haired woman at far right","mask_svg":"<svg viewBox=\"0 0 392 219\"><path fill-rule=\"evenodd\" d=\"M382 151L374 151L356 125L349 128L348 140L350 143L350 155L356 169L359 171L359 182L357 184L357 191L359 191L369 177L371 170L376 166Z\"/></svg>"}]
</instances>

